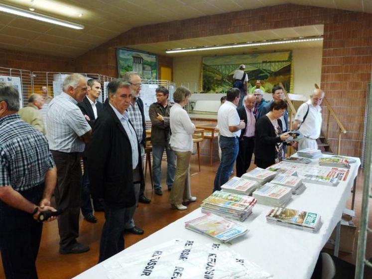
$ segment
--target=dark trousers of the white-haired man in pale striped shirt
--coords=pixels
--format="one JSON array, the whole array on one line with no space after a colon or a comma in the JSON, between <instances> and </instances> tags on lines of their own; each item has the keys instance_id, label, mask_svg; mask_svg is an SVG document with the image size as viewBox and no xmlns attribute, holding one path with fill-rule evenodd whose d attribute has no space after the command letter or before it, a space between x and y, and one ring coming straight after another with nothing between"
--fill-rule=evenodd
<instances>
[{"instance_id":1,"label":"dark trousers of the white-haired man in pale striped shirt","mask_svg":"<svg viewBox=\"0 0 372 279\"><path fill-rule=\"evenodd\" d=\"M54 190L56 207L63 210L58 217L59 245L61 249L66 249L74 245L79 236L82 178L80 154L51 152L57 166L57 185Z\"/></svg>"}]
</instances>

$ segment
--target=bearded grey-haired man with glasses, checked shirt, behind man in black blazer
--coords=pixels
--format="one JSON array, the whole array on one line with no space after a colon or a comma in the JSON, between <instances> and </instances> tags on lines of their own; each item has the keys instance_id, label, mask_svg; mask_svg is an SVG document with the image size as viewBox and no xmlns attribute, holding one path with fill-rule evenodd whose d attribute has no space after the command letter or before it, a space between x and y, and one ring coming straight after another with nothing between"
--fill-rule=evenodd
<instances>
[{"instance_id":1,"label":"bearded grey-haired man with glasses, checked shirt, behind man in black blazer","mask_svg":"<svg viewBox=\"0 0 372 279\"><path fill-rule=\"evenodd\" d=\"M123 80L130 84L131 90L131 100L129 102L129 107L127 108L129 121L133 125L134 131L137 135L137 139L140 145L140 159L143 162L144 159L144 146L146 139L146 124L144 118L143 102L139 98L139 92L141 91L141 78L137 72L126 72L123 76ZM142 172L142 175L139 175L139 172ZM144 180L143 180L143 163L141 164L141 169L135 169L133 172L133 184L134 184L134 193L136 200L142 203L150 203L151 200L147 199L144 192ZM125 231L132 234L141 235L143 230L134 225L134 212L137 207L137 204L132 206L131 210L127 211L129 214L128 222L125 224Z\"/></svg>"}]
</instances>

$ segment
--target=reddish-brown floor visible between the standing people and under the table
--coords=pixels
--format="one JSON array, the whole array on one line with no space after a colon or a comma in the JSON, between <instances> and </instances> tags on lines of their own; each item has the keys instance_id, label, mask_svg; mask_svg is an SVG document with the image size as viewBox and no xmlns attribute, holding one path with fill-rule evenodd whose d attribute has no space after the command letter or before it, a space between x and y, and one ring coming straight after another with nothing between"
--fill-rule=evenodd
<instances>
[{"instance_id":1,"label":"reddish-brown floor visible between the standing people and under the table","mask_svg":"<svg viewBox=\"0 0 372 279\"><path fill-rule=\"evenodd\" d=\"M192 194L198 198L197 202L189 205L185 211L172 210L168 203L169 192L164 186L163 196L154 195L151 190L149 176L147 173L146 196L152 201L150 204L139 204L135 215L136 226L144 229L145 233L142 236L125 235L125 247L135 244L142 238L156 232L174 220L188 214L198 208L201 201L209 196L213 188L213 179L215 176L218 162L214 162L213 167L209 166L209 158L202 157L202 169L198 172L197 156L192 156L191 164L191 185ZM165 168L165 164L163 164ZM163 173L163 177L164 177ZM359 224L360 208L362 203L362 186L363 172L358 175L357 195L356 195L356 217L354 222ZM351 199L348 204L350 207ZM372 206L370 207L370 224L372 224ZM78 255L59 255L58 253L58 229L57 222L52 222L44 225L43 236L39 256L37 259L37 269L40 279L70 279L75 275L82 273L90 267L97 264L99 241L101 230L104 223L104 214L96 213L99 219L97 224L91 224L81 218L80 222L80 238L82 243L89 244L91 250L84 254ZM358 233L356 234L357 245ZM329 251L332 253L332 251ZM372 257L372 235L369 235L367 246L367 258ZM355 263L356 248L353 254L340 253L340 258L350 263ZM0 279L4 278L2 266L0 263Z\"/></svg>"}]
</instances>

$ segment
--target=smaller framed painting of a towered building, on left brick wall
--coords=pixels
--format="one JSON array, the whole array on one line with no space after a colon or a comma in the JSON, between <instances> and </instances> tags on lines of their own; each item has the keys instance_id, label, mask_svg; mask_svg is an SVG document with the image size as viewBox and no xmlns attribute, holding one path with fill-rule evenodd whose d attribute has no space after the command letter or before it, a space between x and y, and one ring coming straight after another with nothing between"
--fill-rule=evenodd
<instances>
[{"instance_id":1,"label":"smaller framed painting of a towered building, on left brick wall","mask_svg":"<svg viewBox=\"0 0 372 279\"><path fill-rule=\"evenodd\" d=\"M157 56L134 49L118 48L118 75L123 77L126 72L134 71L142 79L157 79Z\"/></svg>"}]
</instances>

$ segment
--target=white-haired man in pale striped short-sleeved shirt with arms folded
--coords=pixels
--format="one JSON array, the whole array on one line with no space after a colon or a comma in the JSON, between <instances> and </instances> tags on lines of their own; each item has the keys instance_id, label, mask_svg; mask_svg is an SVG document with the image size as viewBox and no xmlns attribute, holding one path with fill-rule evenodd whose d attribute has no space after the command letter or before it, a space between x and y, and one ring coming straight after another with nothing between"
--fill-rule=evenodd
<instances>
[{"instance_id":1,"label":"white-haired man in pale striped short-sleeved shirt with arms folded","mask_svg":"<svg viewBox=\"0 0 372 279\"><path fill-rule=\"evenodd\" d=\"M91 137L91 127L77 106L87 95L87 81L80 74L72 74L62 83L63 92L49 104L46 115L47 138L57 166L56 205L63 213L58 218L60 254L89 251L78 243L81 202L80 153Z\"/></svg>"}]
</instances>

